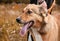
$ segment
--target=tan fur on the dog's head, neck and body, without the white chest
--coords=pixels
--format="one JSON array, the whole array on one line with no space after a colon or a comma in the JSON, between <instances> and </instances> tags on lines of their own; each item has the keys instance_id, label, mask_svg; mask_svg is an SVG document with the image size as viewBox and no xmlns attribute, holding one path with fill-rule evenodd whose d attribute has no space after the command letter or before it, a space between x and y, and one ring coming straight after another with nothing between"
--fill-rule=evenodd
<instances>
[{"instance_id":1,"label":"tan fur on the dog's head, neck and body, without the white chest","mask_svg":"<svg viewBox=\"0 0 60 41\"><path fill-rule=\"evenodd\" d=\"M28 10L32 13L29 14ZM58 41L57 19L55 16L48 14L47 9L41 5L29 4L23 11L20 15L21 21L33 20L33 28L37 29L43 41Z\"/></svg>"}]
</instances>

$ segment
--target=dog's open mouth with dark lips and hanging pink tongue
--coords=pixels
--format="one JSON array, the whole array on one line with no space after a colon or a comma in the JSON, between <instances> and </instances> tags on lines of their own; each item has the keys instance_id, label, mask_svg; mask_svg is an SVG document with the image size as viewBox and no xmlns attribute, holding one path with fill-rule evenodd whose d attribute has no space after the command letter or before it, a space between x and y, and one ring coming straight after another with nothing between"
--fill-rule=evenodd
<instances>
[{"instance_id":1,"label":"dog's open mouth with dark lips and hanging pink tongue","mask_svg":"<svg viewBox=\"0 0 60 41\"><path fill-rule=\"evenodd\" d=\"M31 28L34 24L34 21L29 21L24 23L22 29L20 30L20 35L24 36L26 34L26 32L28 31L29 28Z\"/></svg>"}]
</instances>

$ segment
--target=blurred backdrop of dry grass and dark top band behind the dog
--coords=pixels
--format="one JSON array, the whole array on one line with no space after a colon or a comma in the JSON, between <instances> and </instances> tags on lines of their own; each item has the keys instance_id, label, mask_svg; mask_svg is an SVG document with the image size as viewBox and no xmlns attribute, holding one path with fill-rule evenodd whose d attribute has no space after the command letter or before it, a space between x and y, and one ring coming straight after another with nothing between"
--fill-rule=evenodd
<instances>
[{"instance_id":1,"label":"blurred backdrop of dry grass and dark top band behind the dog","mask_svg":"<svg viewBox=\"0 0 60 41\"><path fill-rule=\"evenodd\" d=\"M0 0L0 41L27 41L27 34L19 35L22 25L16 18L29 3L30 0ZM56 0L52 13L60 14L60 0Z\"/></svg>"}]
</instances>

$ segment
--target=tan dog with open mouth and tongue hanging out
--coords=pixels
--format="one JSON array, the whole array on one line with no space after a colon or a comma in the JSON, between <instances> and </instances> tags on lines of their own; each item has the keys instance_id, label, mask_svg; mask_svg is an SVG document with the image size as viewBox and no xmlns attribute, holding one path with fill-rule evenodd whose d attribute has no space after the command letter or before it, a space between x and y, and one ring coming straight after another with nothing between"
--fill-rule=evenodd
<instances>
[{"instance_id":1,"label":"tan dog with open mouth and tongue hanging out","mask_svg":"<svg viewBox=\"0 0 60 41\"><path fill-rule=\"evenodd\" d=\"M21 36L30 31L32 41L58 41L57 18L49 14L42 5L27 5L16 21L24 24L20 31Z\"/></svg>"}]
</instances>

